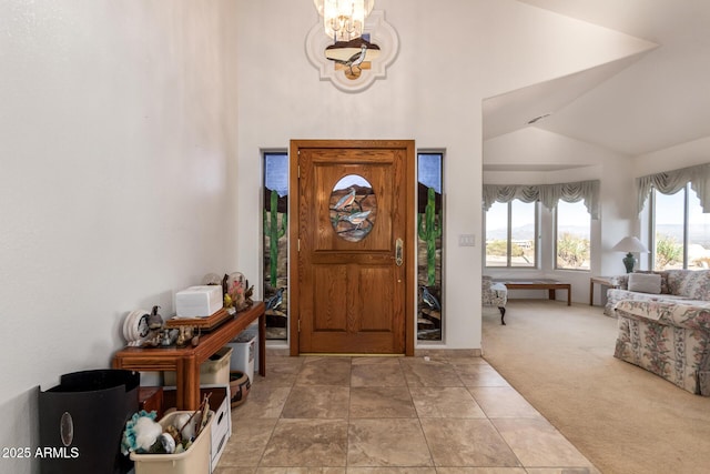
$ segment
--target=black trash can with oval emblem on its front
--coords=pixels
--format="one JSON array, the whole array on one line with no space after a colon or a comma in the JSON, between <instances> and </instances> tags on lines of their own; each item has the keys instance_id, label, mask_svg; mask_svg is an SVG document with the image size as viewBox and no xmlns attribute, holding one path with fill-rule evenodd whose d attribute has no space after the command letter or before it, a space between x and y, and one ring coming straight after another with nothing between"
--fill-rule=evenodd
<instances>
[{"instance_id":1,"label":"black trash can with oval emblem on its front","mask_svg":"<svg viewBox=\"0 0 710 474\"><path fill-rule=\"evenodd\" d=\"M42 474L125 474L133 467L121 454L125 422L139 410L141 375L95 370L62 375L40 392Z\"/></svg>"}]
</instances>

